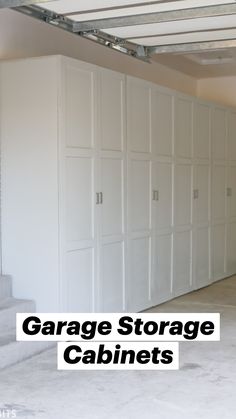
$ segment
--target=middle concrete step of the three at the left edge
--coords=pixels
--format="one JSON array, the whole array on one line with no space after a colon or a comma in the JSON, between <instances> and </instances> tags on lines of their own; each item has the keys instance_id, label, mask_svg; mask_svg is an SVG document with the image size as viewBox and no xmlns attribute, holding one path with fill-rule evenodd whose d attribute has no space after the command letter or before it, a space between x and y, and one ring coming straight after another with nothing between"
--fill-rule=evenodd
<instances>
[{"instance_id":1,"label":"middle concrete step of the three at the left edge","mask_svg":"<svg viewBox=\"0 0 236 419\"><path fill-rule=\"evenodd\" d=\"M16 327L16 313L34 313L35 303L10 297L0 301L0 333Z\"/></svg>"}]
</instances>

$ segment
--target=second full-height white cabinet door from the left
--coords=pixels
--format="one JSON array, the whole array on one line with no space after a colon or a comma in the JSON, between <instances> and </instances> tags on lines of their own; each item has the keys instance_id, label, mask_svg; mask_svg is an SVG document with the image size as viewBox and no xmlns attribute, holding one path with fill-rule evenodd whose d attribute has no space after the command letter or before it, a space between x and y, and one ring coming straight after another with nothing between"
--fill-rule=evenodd
<instances>
[{"instance_id":1,"label":"second full-height white cabinet door from the left","mask_svg":"<svg viewBox=\"0 0 236 419\"><path fill-rule=\"evenodd\" d=\"M125 77L100 70L99 281L98 307L125 309Z\"/></svg>"}]
</instances>

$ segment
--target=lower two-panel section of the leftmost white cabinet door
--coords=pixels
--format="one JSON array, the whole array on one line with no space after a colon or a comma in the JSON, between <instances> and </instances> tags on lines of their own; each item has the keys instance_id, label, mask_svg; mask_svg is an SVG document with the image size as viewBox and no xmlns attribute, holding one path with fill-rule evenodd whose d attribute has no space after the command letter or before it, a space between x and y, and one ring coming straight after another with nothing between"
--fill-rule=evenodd
<instances>
[{"instance_id":1,"label":"lower two-panel section of the leftmost white cabinet door","mask_svg":"<svg viewBox=\"0 0 236 419\"><path fill-rule=\"evenodd\" d=\"M93 309L96 239L94 229L94 160L66 159L66 309Z\"/></svg>"}]
</instances>

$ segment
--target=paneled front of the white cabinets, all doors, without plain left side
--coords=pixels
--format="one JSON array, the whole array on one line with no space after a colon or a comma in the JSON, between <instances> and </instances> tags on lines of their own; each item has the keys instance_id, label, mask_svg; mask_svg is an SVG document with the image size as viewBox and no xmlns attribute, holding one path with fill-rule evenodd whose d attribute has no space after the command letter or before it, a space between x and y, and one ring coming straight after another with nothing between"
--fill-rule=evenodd
<instances>
[{"instance_id":1,"label":"paneled front of the white cabinets, all doors, without plain left side","mask_svg":"<svg viewBox=\"0 0 236 419\"><path fill-rule=\"evenodd\" d=\"M111 72L98 80L97 137L81 148L65 136L68 307L143 310L236 271L236 114ZM90 277L83 293L71 258Z\"/></svg>"}]
</instances>

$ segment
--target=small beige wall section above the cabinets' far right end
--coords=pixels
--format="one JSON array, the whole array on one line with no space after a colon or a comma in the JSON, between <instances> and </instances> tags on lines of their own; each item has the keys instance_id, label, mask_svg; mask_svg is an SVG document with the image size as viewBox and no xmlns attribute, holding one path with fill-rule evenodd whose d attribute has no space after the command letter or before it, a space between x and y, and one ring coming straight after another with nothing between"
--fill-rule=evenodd
<instances>
[{"instance_id":1,"label":"small beige wall section above the cabinets' far right end","mask_svg":"<svg viewBox=\"0 0 236 419\"><path fill-rule=\"evenodd\" d=\"M199 80L197 92L198 96L203 99L236 106L236 77L216 77Z\"/></svg>"}]
</instances>

